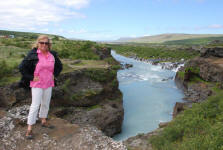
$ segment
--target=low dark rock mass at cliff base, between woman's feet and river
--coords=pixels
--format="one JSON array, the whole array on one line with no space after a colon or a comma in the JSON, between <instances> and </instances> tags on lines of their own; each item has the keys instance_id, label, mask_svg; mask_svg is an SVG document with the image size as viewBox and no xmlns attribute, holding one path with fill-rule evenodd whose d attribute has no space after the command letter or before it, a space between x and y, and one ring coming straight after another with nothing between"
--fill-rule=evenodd
<instances>
[{"instance_id":1,"label":"low dark rock mass at cliff base, between woman's feet and river","mask_svg":"<svg viewBox=\"0 0 223 150\"><path fill-rule=\"evenodd\" d=\"M61 108L53 114L74 124L96 126L111 137L121 132L124 110L119 100L113 100L92 108Z\"/></svg>"}]
</instances>

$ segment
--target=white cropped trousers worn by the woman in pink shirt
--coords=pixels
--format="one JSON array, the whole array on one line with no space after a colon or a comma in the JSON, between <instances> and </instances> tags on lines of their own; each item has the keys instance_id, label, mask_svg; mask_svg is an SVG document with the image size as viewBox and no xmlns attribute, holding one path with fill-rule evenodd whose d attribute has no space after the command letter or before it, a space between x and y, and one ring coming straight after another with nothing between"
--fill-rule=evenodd
<instances>
[{"instance_id":1,"label":"white cropped trousers worn by the woman in pink shirt","mask_svg":"<svg viewBox=\"0 0 223 150\"><path fill-rule=\"evenodd\" d=\"M32 88L32 104L29 109L27 120L28 125L33 125L36 123L39 106L39 118L47 118L51 95L52 87L47 89Z\"/></svg>"}]
</instances>

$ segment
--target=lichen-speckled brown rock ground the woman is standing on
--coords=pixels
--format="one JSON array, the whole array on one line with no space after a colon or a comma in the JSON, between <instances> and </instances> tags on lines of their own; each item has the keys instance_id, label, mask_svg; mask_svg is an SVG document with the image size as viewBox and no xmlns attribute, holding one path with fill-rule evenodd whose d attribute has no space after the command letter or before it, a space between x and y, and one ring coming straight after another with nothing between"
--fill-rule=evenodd
<instances>
[{"instance_id":1,"label":"lichen-speckled brown rock ground the woman is standing on","mask_svg":"<svg viewBox=\"0 0 223 150\"><path fill-rule=\"evenodd\" d=\"M34 140L24 138L26 125L24 117L28 106L16 107L0 119L1 150L126 150L122 142L113 141L93 126L78 126L59 118L51 118L49 122L55 129L34 126Z\"/></svg>"}]
</instances>

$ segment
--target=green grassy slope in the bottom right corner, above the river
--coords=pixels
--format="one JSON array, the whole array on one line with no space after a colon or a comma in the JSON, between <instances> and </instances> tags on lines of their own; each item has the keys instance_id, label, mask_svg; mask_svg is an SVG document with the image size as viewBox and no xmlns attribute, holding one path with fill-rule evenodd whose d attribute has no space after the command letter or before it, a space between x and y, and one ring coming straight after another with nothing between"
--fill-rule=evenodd
<instances>
[{"instance_id":1,"label":"green grassy slope in the bottom right corner, above the river","mask_svg":"<svg viewBox=\"0 0 223 150\"><path fill-rule=\"evenodd\" d=\"M213 84L215 83L208 83ZM159 136L150 139L157 150L222 150L223 90L178 115Z\"/></svg>"}]
</instances>

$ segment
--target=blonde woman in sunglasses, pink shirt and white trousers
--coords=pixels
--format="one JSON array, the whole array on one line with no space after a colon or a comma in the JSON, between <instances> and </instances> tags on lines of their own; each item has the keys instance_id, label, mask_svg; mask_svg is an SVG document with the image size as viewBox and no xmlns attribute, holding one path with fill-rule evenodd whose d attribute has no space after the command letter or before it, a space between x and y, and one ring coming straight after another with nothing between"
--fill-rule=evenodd
<instances>
[{"instance_id":1,"label":"blonde woman in sunglasses, pink shirt and white trousers","mask_svg":"<svg viewBox=\"0 0 223 150\"><path fill-rule=\"evenodd\" d=\"M37 113L41 118L42 127L53 128L46 121L52 87L55 85L54 77L57 77L62 71L62 63L57 53L51 51L51 40L46 35L40 35L33 46L33 49L24 58L19 65L22 74L20 86L24 88L31 87L32 104L30 106L27 119L26 138L32 139L32 125L36 123Z\"/></svg>"}]
</instances>

